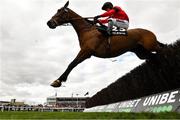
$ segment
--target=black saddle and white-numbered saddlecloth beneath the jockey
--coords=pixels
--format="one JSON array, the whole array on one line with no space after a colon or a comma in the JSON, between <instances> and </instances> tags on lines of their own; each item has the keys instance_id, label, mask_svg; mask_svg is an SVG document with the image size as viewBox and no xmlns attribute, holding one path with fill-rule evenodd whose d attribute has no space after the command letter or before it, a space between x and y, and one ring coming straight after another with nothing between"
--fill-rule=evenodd
<instances>
[{"instance_id":1,"label":"black saddle and white-numbered saddlecloth beneath the jockey","mask_svg":"<svg viewBox=\"0 0 180 120\"><path fill-rule=\"evenodd\" d=\"M108 31L107 31L108 27L105 25L96 26L96 28L101 33L103 33L105 35L109 35L109 36L114 36L114 35L116 35L116 36L117 35L127 36L128 35L126 29L124 29L124 28L113 27L113 29L111 30L110 33L108 33Z\"/></svg>"}]
</instances>

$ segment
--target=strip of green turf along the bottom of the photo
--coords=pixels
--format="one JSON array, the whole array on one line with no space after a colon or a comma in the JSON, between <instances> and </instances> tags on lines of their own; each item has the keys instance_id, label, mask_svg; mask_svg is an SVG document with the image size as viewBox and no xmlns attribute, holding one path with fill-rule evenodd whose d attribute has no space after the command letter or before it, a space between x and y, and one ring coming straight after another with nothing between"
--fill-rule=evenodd
<instances>
[{"instance_id":1,"label":"strip of green turf along the bottom of the photo","mask_svg":"<svg viewBox=\"0 0 180 120\"><path fill-rule=\"evenodd\" d=\"M180 114L103 112L0 112L0 119L180 119Z\"/></svg>"}]
</instances>

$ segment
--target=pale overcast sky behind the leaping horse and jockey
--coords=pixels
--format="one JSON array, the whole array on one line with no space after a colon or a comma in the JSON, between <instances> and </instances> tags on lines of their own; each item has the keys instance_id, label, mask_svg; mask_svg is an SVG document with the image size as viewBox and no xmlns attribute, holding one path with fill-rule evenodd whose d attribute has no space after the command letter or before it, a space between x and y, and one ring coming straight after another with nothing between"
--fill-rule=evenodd
<instances>
[{"instance_id":1,"label":"pale overcast sky behind the leaping horse and jockey","mask_svg":"<svg viewBox=\"0 0 180 120\"><path fill-rule=\"evenodd\" d=\"M180 38L180 0L109 1L126 11L130 29L151 30L166 44ZM83 17L94 17L104 12L104 2L70 0L69 8ZM46 24L65 3L0 0L0 101L39 104L56 92L59 97L83 97L89 92L91 97L144 62L130 52L111 59L91 57L73 69L64 87L51 87L80 50L72 26L52 30Z\"/></svg>"}]
</instances>

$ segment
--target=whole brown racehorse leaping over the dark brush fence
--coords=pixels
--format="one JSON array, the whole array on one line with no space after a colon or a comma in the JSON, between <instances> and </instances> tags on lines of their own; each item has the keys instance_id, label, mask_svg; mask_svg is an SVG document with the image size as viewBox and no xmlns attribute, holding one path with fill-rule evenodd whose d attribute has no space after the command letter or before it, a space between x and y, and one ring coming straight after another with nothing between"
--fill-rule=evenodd
<instances>
[{"instance_id":1,"label":"whole brown racehorse leaping over the dark brush fence","mask_svg":"<svg viewBox=\"0 0 180 120\"><path fill-rule=\"evenodd\" d=\"M161 49L162 43L157 41L151 31L136 28L128 30L127 36L106 36L99 32L95 25L68 8L68 5L69 1L58 9L47 25L55 29L65 23L71 23L79 38L80 51L65 72L51 84L53 87L60 87L72 69L91 56L111 58L131 51L140 59L150 59L154 55L153 52L157 54Z\"/></svg>"}]
</instances>

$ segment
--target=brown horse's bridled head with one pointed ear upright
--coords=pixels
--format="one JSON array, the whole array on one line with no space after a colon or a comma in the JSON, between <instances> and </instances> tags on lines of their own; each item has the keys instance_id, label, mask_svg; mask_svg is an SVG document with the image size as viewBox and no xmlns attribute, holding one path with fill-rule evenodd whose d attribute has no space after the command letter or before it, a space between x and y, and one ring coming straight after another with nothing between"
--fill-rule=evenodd
<instances>
[{"instance_id":1,"label":"brown horse's bridled head with one pointed ear upright","mask_svg":"<svg viewBox=\"0 0 180 120\"><path fill-rule=\"evenodd\" d=\"M59 25L64 23L69 23L69 9L67 8L69 5L69 1L66 2L64 7L58 9L57 13L47 22L49 28L56 28Z\"/></svg>"}]
</instances>

